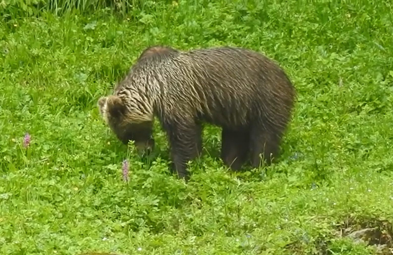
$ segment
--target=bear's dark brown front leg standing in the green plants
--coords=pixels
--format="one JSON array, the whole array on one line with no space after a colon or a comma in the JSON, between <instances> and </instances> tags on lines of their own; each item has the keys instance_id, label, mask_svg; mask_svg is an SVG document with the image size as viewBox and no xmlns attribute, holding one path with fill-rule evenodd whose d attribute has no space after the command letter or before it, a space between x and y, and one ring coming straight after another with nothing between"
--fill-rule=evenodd
<instances>
[{"instance_id":1,"label":"bear's dark brown front leg standing in the green plants","mask_svg":"<svg viewBox=\"0 0 393 255\"><path fill-rule=\"evenodd\" d=\"M188 179L187 163L202 152L200 124L178 122L167 125L171 157L178 177Z\"/></svg>"}]
</instances>

